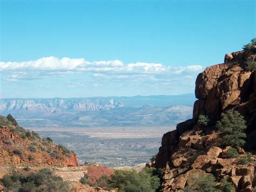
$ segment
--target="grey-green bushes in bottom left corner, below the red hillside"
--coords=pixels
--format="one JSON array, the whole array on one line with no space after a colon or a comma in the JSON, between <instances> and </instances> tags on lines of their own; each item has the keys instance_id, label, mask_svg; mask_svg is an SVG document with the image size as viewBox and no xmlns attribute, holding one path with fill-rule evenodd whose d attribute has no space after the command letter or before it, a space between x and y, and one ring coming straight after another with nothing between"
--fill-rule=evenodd
<instances>
[{"instance_id":1,"label":"grey-green bushes in bottom left corner, below the red hillside","mask_svg":"<svg viewBox=\"0 0 256 192\"><path fill-rule=\"evenodd\" d=\"M2 183L6 191L69 191L69 183L53 175L50 169L41 169L29 175L4 175Z\"/></svg>"}]
</instances>

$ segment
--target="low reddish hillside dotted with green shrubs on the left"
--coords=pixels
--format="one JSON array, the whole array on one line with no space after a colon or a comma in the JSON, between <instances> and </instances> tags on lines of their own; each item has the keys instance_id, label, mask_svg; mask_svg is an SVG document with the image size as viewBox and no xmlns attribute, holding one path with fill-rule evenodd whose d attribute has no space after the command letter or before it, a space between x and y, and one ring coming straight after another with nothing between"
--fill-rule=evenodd
<instances>
[{"instance_id":1,"label":"low reddish hillside dotted with green shrubs on the left","mask_svg":"<svg viewBox=\"0 0 256 192\"><path fill-rule=\"evenodd\" d=\"M0 166L78 166L77 156L64 146L41 139L35 132L19 127L11 116L0 115Z\"/></svg>"}]
</instances>

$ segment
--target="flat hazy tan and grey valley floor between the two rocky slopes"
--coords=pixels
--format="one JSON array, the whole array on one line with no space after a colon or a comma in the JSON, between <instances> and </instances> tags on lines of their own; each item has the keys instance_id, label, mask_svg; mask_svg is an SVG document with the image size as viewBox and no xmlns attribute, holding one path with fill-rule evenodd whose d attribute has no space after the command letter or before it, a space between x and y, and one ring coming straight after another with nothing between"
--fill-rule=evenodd
<instances>
[{"instance_id":1,"label":"flat hazy tan and grey valley floor between the two rocky slopes","mask_svg":"<svg viewBox=\"0 0 256 192\"><path fill-rule=\"evenodd\" d=\"M29 128L75 151L80 164L136 166L158 153L161 136L173 127Z\"/></svg>"}]
</instances>

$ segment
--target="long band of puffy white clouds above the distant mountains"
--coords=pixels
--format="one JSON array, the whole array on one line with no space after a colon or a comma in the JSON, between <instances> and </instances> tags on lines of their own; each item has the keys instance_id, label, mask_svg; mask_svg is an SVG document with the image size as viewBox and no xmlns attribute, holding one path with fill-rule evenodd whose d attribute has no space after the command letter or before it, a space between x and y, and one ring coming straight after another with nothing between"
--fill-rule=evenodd
<instances>
[{"instance_id":1,"label":"long band of puffy white clouds above the distant mountains","mask_svg":"<svg viewBox=\"0 0 256 192\"><path fill-rule=\"evenodd\" d=\"M145 78L157 81L170 76L193 76L203 70L200 65L173 67L160 63L129 63L120 60L86 61L84 58L43 57L22 62L0 62L0 71L7 75L6 81L31 80L49 76L63 77L73 73L92 73L94 78L126 79Z\"/></svg>"}]
</instances>

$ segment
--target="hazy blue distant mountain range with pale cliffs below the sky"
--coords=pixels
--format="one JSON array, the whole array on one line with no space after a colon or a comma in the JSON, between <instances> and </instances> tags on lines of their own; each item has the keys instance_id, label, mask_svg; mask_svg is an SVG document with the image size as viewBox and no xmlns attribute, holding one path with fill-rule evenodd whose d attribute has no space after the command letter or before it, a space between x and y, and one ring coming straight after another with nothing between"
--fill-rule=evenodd
<instances>
[{"instance_id":1,"label":"hazy blue distant mountain range with pale cliffs below the sky","mask_svg":"<svg viewBox=\"0 0 256 192\"><path fill-rule=\"evenodd\" d=\"M25 127L169 126L191 118L193 94L0 99L0 113Z\"/></svg>"}]
</instances>

